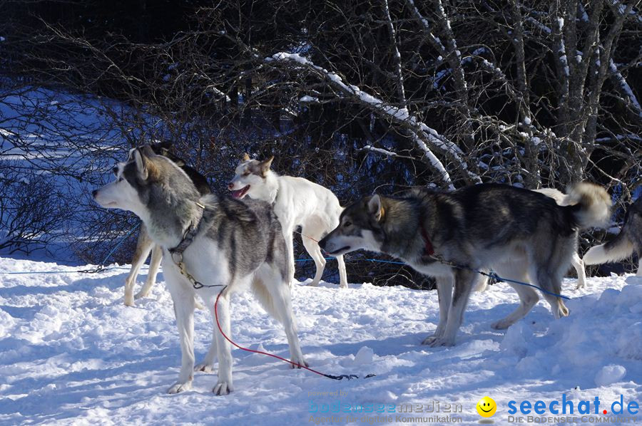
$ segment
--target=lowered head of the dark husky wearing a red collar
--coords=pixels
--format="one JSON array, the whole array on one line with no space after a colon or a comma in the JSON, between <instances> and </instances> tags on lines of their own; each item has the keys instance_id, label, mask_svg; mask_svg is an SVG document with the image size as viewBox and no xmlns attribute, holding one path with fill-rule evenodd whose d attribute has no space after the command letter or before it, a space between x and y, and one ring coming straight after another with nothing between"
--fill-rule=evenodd
<instances>
[{"instance_id":1,"label":"lowered head of the dark husky wearing a red collar","mask_svg":"<svg viewBox=\"0 0 642 426\"><path fill-rule=\"evenodd\" d=\"M382 197L365 197L341 213L339 226L327 234L319 245L332 256L358 249L382 251L382 224L385 218Z\"/></svg>"}]
</instances>

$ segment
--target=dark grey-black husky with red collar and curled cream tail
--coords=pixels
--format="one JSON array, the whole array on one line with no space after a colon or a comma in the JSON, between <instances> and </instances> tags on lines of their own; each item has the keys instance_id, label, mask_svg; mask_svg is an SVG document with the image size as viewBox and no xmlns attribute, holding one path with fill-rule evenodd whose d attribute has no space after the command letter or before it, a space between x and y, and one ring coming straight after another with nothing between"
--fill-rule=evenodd
<instances>
[{"instance_id":1,"label":"dark grey-black husky with red collar and curled cream tail","mask_svg":"<svg viewBox=\"0 0 642 426\"><path fill-rule=\"evenodd\" d=\"M423 343L452 346L479 277L471 269L493 269L505 278L560 293L576 249L577 230L601 225L611 206L606 191L588 183L576 185L569 196L571 205L562 207L544 194L498 184L449 193L412 189L399 198L373 195L347 207L339 227L320 245L333 255L357 249L380 251L434 276L439 325ZM494 323L496 329L524 318L539 299L531 287L511 286L519 294L520 306ZM544 298L555 318L569 315L561 298L548 293Z\"/></svg>"}]
</instances>

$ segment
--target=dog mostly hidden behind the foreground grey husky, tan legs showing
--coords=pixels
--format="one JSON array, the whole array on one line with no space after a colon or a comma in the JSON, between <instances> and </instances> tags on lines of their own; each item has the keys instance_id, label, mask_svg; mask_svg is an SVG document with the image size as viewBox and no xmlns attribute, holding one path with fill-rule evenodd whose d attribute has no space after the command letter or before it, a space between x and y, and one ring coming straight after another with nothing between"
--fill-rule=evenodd
<instances>
[{"instance_id":1,"label":"dog mostly hidden behind the foreground grey husky, tan legs showing","mask_svg":"<svg viewBox=\"0 0 642 426\"><path fill-rule=\"evenodd\" d=\"M178 167L183 169L187 173L190 180L192 180L196 189L201 195L209 194L211 191L208 181L203 175L194 170L192 167L185 164L185 160L182 158L176 157L170 152L171 142L164 141L158 142L150 145L151 149L156 152L158 155L163 155L168 157L170 160L176 163ZM113 168L114 175L118 176L118 167ZM136 284L136 277L138 272L141 270L141 266L145 263L149 252L152 252L151 259L149 261L149 271L147 274L147 281L141 291L136 293L136 296L133 296L133 287ZM141 230L138 233L138 241L136 241L136 251L134 251L133 258L131 259L131 269L129 274L125 279L125 305L134 306L134 299L141 297L146 297L151 290L151 287L156 282L156 275L158 274L158 266L161 266L161 258L163 257L163 250L160 246L154 244L153 240L147 232L147 227L143 223L141 225Z\"/></svg>"}]
</instances>

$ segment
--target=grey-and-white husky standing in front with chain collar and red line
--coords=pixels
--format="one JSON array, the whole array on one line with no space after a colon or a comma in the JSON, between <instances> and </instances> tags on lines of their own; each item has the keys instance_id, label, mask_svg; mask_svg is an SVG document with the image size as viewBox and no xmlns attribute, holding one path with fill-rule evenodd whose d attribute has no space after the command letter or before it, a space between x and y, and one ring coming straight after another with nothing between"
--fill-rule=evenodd
<instances>
[{"instance_id":1,"label":"grey-and-white husky standing in front with chain collar and red line","mask_svg":"<svg viewBox=\"0 0 642 426\"><path fill-rule=\"evenodd\" d=\"M201 196L188 175L151 147L136 148L131 160L118 164L114 182L93 191L102 207L134 212L143 220L151 239L163 249L163 273L172 296L182 365L178 381L168 393L189 390L194 370L211 371L218 358L217 395L233 390L230 343L214 323L211 346L203 363L194 368L195 296L203 298L214 315L219 287L218 318L230 336L230 296L251 288L265 310L285 327L290 359L307 365L301 353L290 303L285 240L270 204ZM177 266L180 260L185 274ZM196 285L186 276L204 285Z\"/></svg>"}]
</instances>

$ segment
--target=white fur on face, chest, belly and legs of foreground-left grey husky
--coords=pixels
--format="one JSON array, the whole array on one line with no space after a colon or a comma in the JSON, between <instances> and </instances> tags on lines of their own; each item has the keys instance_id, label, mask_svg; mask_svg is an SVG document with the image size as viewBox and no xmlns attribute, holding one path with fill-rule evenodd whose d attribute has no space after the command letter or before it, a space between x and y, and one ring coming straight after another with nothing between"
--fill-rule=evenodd
<instances>
[{"instance_id":1,"label":"white fur on face, chest, belly and legs of foreground-left grey husky","mask_svg":"<svg viewBox=\"0 0 642 426\"><path fill-rule=\"evenodd\" d=\"M139 155L138 151L135 152L135 155ZM195 290L190 281L180 274L178 266L176 266L167 251L168 247L178 244L180 237L178 239L176 237L163 238L164 236L158 235L158 232L153 232L154 229L150 227L150 212L141 203L136 190L126 180L121 180L122 167L120 168L121 172L118 173L116 181L98 189L94 194L94 199L103 207L126 209L136 213L143 219L143 222L146 222L150 230L149 234L156 244L163 247L163 274L165 275L165 285L172 296L174 304L181 352L178 380L168 389L168 393L190 390L192 388L194 370L213 370L213 363L216 357L218 358L218 382L213 388L213 392L217 395L226 395L233 390L232 350L230 343L218 331L215 321L213 321L213 338L208 353L205 355L203 362L196 367L194 355L196 295L198 294L203 298L214 316L216 296L223 287L204 287L203 289ZM207 197L203 197L201 200L205 199ZM260 292L258 299L265 305L266 311L274 314L277 320L282 322L287 342L290 346L290 359L292 362L307 366L296 333L296 323L293 318L290 301L290 287L283 282L285 277L282 276L278 269L273 269L268 264L263 264L252 274L235 277L234 280L231 280L227 254L218 249L215 241L203 235L198 235L192 244L185 249L183 261L186 269L197 281L208 286L227 285L218 303L219 323L226 336L232 338L230 333L231 294L251 287L256 293Z\"/></svg>"}]
</instances>

